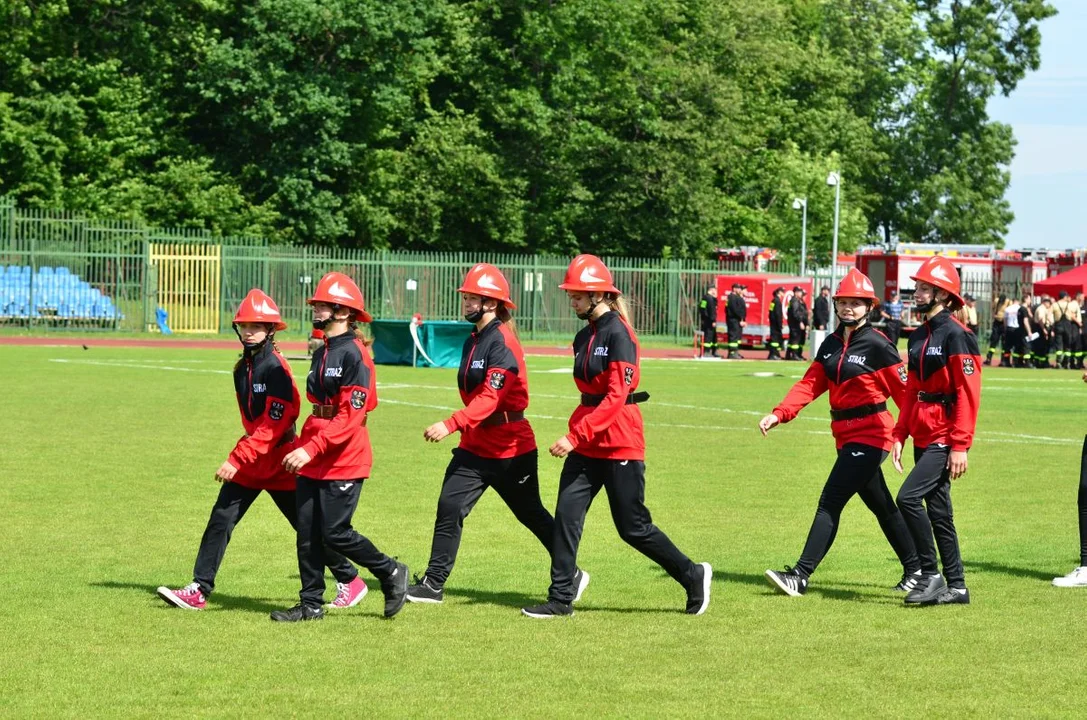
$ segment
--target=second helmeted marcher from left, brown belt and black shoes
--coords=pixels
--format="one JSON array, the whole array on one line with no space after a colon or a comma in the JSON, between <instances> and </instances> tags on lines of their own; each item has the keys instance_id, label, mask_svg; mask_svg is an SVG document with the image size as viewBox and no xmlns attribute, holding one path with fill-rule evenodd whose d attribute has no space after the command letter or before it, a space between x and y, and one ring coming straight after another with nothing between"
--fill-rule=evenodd
<instances>
[{"instance_id":1,"label":"second helmeted marcher from left, brown belt and black shoes","mask_svg":"<svg viewBox=\"0 0 1087 720\"><path fill-rule=\"evenodd\" d=\"M313 353L305 396L313 413L302 425L299 446L283 465L298 473L299 604L276 610L277 622L320 620L325 578L321 558L332 548L374 573L385 595L385 617L404 605L408 566L390 558L351 526L363 482L370 477L373 450L366 429L377 407L374 361L357 330L371 321L362 293L347 275L328 273L309 300L313 325L325 333L325 344Z\"/></svg>"}]
</instances>

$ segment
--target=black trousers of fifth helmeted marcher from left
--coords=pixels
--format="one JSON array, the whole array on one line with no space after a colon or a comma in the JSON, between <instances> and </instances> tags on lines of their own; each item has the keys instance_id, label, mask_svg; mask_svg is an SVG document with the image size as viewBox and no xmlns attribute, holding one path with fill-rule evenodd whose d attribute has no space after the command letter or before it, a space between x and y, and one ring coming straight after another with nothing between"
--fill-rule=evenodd
<instances>
[{"instance_id":1,"label":"black trousers of fifth helmeted marcher from left","mask_svg":"<svg viewBox=\"0 0 1087 720\"><path fill-rule=\"evenodd\" d=\"M885 459L887 452L883 448L861 443L849 443L838 450L838 459L826 479L823 494L820 495L819 509L815 510L815 519L808 531L808 542L797 561L797 570L804 575L815 572L834 545L841 511L854 495L861 496L864 505L879 521L879 527L895 549L902 569L914 572L921 568L910 531L895 507L887 481L884 480L880 464Z\"/></svg>"}]
</instances>

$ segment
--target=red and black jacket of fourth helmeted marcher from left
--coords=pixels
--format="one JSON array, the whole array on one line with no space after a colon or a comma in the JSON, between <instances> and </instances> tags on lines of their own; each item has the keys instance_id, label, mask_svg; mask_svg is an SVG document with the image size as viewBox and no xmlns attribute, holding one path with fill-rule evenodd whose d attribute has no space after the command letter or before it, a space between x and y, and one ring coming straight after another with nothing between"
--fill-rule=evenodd
<instances>
[{"instance_id":1,"label":"red and black jacket of fourth helmeted marcher from left","mask_svg":"<svg viewBox=\"0 0 1087 720\"><path fill-rule=\"evenodd\" d=\"M590 320L574 337L574 384L599 405L577 406L566 439L590 458L645 460L641 411L628 401L638 388L638 336L617 312ZM595 396L595 397L592 397Z\"/></svg>"}]
</instances>

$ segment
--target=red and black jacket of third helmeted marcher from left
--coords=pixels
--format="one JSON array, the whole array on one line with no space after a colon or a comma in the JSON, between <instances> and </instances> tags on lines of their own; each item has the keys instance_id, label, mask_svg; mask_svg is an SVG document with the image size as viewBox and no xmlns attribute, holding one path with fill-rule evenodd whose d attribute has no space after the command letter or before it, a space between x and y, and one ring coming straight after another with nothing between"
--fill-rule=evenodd
<instances>
[{"instance_id":1,"label":"red and black jacket of third helmeted marcher from left","mask_svg":"<svg viewBox=\"0 0 1087 720\"><path fill-rule=\"evenodd\" d=\"M528 407L525 353L502 321L473 331L464 342L457 387L465 407L446 421L446 427L461 431L461 449L480 458L513 458L536 449L527 420L480 424L496 412L524 412Z\"/></svg>"}]
</instances>

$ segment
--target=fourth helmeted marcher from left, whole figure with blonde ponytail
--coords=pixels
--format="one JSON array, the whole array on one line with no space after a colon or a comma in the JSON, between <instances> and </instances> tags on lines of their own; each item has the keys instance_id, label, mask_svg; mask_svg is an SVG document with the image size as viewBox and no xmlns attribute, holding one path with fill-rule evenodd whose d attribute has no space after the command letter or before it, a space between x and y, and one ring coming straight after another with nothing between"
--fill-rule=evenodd
<instances>
[{"instance_id":1,"label":"fourth helmeted marcher from left, whole figure with blonde ponytail","mask_svg":"<svg viewBox=\"0 0 1087 720\"><path fill-rule=\"evenodd\" d=\"M620 537L686 589L688 613L702 615L710 604L710 563L691 562L653 524L645 505L646 439L637 404L649 395L638 392L638 336L627 320L626 303L611 272L591 255L574 258L559 287L566 290L577 316L587 321L574 337L574 383L582 402L570 418L570 432L549 450L565 462L554 512L548 599L522 612L541 619L573 615L585 514L603 488Z\"/></svg>"}]
</instances>

